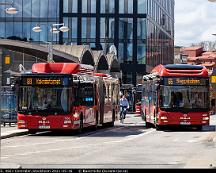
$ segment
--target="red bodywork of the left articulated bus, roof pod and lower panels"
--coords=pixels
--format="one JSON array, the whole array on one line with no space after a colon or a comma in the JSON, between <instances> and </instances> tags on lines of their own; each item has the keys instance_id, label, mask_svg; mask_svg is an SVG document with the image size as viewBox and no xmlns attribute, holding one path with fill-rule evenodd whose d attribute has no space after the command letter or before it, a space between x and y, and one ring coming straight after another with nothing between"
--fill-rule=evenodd
<instances>
[{"instance_id":1,"label":"red bodywork of the left articulated bus, roof pod and lower panels","mask_svg":"<svg viewBox=\"0 0 216 173\"><path fill-rule=\"evenodd\" d=\"M101 78L110 77L110 75L103 73L95 73L94 68L90 65L78 64L78 63L35 63L32 66L32 73L37 76L37 74L84 74L90 75L91 77L97 76ZM94 81L96 84L96 80ZM98 88L96 90L96 99L99 100ZM80 128L80 118L79 116L74 116L75 114L83 115L83 127L95 126L97 125L97 115L100 104L97 102L94 106L74 106L71 114L67 115L52 115L46 114L20 114L18 115L18 128L19 129L34 129L34 130L54 130L54 129L79 129ZM116 107L116 106L115 106ZM104 115L102 123L111 123L113 121L112 113L114 112L113 103L104 104ZM101 117L99 117L101 118Z\"/></svg>"}]
</instances>

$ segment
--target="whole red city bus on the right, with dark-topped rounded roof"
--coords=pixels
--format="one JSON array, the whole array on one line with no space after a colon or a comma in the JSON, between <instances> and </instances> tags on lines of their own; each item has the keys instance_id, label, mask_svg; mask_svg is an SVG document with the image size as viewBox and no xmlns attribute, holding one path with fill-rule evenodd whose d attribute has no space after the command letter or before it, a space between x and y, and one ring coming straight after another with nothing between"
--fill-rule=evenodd
<instances>
[{"instance_id":1,"label":"whole red city bus on the right, with dark-topped rounded roof","mask_svg":"<svg viewBox=\"0 0 216 173\"><path fill-rule=\"evenodd\" d=\"M203 66L159 65L143 76L142 119L146 126L209 125L209 77Z\"/></svg>"}]
</instances>

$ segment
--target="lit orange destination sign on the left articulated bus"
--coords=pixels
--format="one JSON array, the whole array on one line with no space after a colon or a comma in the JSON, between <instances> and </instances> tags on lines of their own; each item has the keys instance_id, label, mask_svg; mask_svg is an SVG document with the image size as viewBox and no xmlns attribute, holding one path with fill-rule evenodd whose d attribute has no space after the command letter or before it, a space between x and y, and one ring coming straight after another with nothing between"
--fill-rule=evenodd
<instances>
[{"instance_id":1,"label":"lit orange destination sign on the left articulated bus","mask_svg":"<svg viewBox=\"0 0 216 173\"><path fill-rule=\"evenodd\" d=\"M23 85L68 85L68 78L22 78Z\"/></svg>"}]
</instances>

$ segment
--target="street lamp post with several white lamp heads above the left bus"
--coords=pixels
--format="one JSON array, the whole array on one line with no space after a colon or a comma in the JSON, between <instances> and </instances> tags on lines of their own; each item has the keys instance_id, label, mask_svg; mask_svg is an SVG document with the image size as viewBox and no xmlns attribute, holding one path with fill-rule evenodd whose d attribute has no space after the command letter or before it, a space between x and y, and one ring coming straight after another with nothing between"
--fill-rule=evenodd
<instances>
[{"instance_id":1,"label":"street lamp post with several white lamp heads above the left bus","mask_svg":"<svg viewBox=\"0 0 216 173\"><path fill-rule=\"evenodd\" d=\"M57 29L57 26L61 26L59 29ZM35 26L32 29L34 32L41 32L42 29L39 25ZM49 44L49 54L47 58L47 62L53 62L53 34L58 34L59 32L68 32L69 28L67 26L64 26L64 23L55 23L51 24L50 32L51 34L51 43Z\"/></svg>"}]
</instances>

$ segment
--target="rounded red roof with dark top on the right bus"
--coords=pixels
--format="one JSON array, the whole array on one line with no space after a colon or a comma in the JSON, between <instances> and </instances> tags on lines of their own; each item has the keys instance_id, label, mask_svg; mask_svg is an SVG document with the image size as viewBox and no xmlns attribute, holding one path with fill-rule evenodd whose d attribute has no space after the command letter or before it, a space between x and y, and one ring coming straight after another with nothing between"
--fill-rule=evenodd
<instances>
[{"instance_id":1,"label":"rounded red roof with dark top on the right bus","mask_svg":"<svg viewBox=\"0 0 216 173\"><path fill-rule=\"evenodd\" d=\"M190 64L158 65L152 70L151 73L157 73L159 76L208 77L208 71L206 67Z\"/></svg>"}]
</instances>

